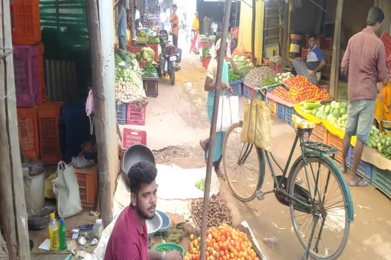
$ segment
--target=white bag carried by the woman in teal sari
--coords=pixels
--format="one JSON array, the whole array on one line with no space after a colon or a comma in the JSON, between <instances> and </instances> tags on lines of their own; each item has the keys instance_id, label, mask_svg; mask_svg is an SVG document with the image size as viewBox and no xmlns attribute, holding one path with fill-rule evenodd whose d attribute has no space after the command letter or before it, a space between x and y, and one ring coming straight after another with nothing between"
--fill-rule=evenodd
<instances>
[{"instance_id":1,"label":"white bag carried by the woman in teal sari","mask_svg":"<svg viewBox=\"0 0 391 260\"><path fill-rule=\"evenodd\" d=\"M220 95L216 132L226 132L233 123L239 122L239 97Z\"/></svg>"}]
</instances>

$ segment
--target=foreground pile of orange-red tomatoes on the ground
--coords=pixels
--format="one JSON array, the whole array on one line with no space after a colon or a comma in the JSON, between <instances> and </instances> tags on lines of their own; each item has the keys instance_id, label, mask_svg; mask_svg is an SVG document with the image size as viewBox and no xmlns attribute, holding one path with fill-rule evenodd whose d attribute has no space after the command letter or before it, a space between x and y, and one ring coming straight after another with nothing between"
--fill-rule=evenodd
<instances>
[{"instance_id":1,"label":"foreground pile of orange-red tomatoes on the ground","mask_svg":"<svg viewBox=\"0 0 391 260\"><path fill-rule=\"evenodd\" d=\"M207 260L259 260L252 248L252 243L247 235L227 224L222 224L218 228L210 228L207 231L206 239L206 259ZM190 236L191 245L184 260L199 260L201 238L194 239Z\"/></svg>"}]
</instances>

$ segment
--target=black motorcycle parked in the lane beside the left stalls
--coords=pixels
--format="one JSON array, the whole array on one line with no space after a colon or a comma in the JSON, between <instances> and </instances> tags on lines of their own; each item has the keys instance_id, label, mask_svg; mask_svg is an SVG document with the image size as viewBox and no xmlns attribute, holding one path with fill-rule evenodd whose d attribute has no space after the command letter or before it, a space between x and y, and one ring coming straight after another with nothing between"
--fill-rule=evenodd
<instances>
[{"instance_id":1,"label":"black motorcycle parked in the lane beside the left stalls","mask_svg":"<svg viewBox=\"0 0 391 260\"><path fill-rule=\"evenodd\" d=\"M166 30L159 32L161 54L159 55L159 77L170 76L171 85L175 84L175 72L181 70L179 63L182 59L182 50L169 42Z\"/></svg>"}]
</instances>

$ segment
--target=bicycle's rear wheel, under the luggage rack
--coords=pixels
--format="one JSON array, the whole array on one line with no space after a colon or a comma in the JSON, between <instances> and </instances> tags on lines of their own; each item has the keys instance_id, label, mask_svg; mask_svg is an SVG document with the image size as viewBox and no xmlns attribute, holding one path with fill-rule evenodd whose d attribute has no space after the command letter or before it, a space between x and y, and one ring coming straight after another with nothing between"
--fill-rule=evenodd
<instances>
[{"instance_id":1,"label":"bicycle's rear wheel, under the luggage rack","mask_svg":"<svg viewBox=\"0 0 391 260\"><path fill-rule=\"evenodd\" d=\"M291 170L288 188L292 197L311 204L312 209L292 200L293 228L304 249L311 243L309 253L315 259L336 259L350 229L347 198L337 176L340 172L335 163L319 156L307 157L306 163L301 159Z\"/></svg>"}]
</instances>

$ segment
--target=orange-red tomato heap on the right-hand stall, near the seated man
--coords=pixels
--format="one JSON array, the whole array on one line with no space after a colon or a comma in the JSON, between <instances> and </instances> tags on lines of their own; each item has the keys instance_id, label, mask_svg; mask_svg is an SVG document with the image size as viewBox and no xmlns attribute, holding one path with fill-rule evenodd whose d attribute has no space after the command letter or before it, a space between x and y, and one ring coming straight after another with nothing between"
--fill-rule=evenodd
<instances>
[{"instance_id":1,"label":"orange-red tomato heap on the right-hand stall, near the seated man","mask_svg":"<svg viewBox=\"0 0 391 260\"><path fill-rule=\"evenodd\" d=\"M276 90L273 90L272 93L294 104L306 100L324 100L330 98L327 90L319 89L304 76L297 75L286 80L284 83L289 87L289 91L280 86Z\"/></svg>"}]
</instances>

